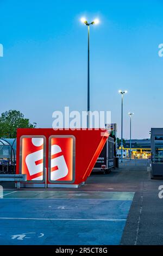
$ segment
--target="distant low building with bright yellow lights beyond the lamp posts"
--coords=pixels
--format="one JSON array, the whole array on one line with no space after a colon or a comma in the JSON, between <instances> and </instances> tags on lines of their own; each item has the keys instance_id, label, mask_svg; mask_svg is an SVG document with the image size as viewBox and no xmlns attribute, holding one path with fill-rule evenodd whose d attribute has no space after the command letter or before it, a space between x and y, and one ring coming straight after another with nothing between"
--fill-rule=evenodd
<instances>
[{"instance_id":1,"label":"distant low building with bright yellow lights beyond the lamp posts","mask_svg":"<svg viewBox=\"0 0 163 256\"><path fill-rule=\"evenodd\" d=\"M121 156L121 142L118 144L117 155ZM130 140L123 144L123 157L129 157ZM148 159L151 157L151 139L131 139L131 157Z\"/></svg>"}]
</instances>

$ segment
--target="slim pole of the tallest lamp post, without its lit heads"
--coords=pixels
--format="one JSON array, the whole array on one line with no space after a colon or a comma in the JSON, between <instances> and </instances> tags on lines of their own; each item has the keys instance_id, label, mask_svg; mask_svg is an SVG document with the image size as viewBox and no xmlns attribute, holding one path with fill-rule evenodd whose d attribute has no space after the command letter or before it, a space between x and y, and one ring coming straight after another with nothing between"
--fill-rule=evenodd
<instances>
[{"instance_id":1,"label":"slim pole of the tallest lamp post, without its lit heads","mask_svg":"<svg viewBox=\"0 0 163 256\"><path fill-rule=\"evenodd\" d=\"M90 26L87 26L87 128L90 127Z\"/></svg>"}]
</instances>

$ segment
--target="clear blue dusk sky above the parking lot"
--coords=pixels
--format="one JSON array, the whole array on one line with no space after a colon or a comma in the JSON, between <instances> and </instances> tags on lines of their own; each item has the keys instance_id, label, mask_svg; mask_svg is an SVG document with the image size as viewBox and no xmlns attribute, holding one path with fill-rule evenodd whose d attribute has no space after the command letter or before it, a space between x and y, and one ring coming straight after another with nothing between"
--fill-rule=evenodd
<instances>
[{"instance_id":1,"label":"clear blue dusk sky above the parking lot","mask_svg":"<svg viewBox=\"0 0 163 256\"><path fill-rule=\"evenodd\" d=\"M52 127L53 111L87 108L87 27L90 34L91 110L111 111L121 136L148 138L163 127L163 2L161 0L0 0L1 113L20 110L38 127Z\"/></svg>"}]
</instances>

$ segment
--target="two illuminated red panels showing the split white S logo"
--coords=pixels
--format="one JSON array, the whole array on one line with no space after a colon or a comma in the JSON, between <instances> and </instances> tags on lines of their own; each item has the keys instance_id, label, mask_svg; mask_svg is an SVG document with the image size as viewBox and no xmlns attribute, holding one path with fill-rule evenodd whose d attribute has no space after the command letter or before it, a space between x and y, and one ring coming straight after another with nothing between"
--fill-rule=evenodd
<instances>
[{"instance_id":1,"label":"two illuminated red panels showing the split white S logo","mask_svg":"<svg viewBox=\"0 0 163 256\"><path fill-rule=\"evenodd\" d=\"M72 181L73 139L51 138L49 147L48 180ZM22 174L28 181L43 181L45 178L45 139L41 137L22 138Z\"/></svg>"}]
</instances>

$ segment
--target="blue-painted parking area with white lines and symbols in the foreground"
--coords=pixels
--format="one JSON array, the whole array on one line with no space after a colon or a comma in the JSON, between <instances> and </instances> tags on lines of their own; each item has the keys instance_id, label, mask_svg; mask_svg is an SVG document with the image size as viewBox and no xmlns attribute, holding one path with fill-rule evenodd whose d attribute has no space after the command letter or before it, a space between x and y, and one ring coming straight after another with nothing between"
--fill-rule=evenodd
<instances>
[{"instance_id":1,"label":"blue-painted parking area with white lines and symbols in the foreground","mask_svg":"<svg viewBox=\"0 0 163 256\"><path fill-rule=\"evenodd\" d=\"M0 245L119 245L133 192L4 191Z\"/></svg>"}]
</instances>

